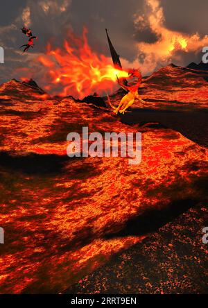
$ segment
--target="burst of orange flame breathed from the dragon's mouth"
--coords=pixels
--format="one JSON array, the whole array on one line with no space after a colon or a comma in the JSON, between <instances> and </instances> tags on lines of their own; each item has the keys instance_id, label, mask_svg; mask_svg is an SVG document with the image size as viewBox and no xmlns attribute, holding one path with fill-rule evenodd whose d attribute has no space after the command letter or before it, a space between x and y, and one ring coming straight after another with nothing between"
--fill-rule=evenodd
<instances>
[{"instance_id":1,"label":"burst of orange flame breathed from the dragon's mouth","mask_svg":"<svg viewBox=\"0 0 208 308\"><path fill-rule=\"evenodd\" d=\"M105 94L114 88L116 76L128 77L127 71L111 65L110 58L92 51L86 28L81 37L69 32L62 48L53 49L48 44L46 54L37 58L37 62L44 66L39 82L53 95L83 98L94 92ZM40 74L40 65L37 65L35 74Z\"/></svg>"}]
</instances>

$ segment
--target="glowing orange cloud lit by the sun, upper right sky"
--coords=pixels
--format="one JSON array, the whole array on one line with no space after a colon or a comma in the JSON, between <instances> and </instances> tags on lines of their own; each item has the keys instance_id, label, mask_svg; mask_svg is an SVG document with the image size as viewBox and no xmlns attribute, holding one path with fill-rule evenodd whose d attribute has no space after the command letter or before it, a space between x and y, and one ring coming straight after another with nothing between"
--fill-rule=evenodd
<instances>
[{"instance_id":1,"label":"glowing orange cloud lit by the sun, upper right sky","mask_svg":"<svg viewBox=\"0 0 208 308\"><path fill-rule=\"evenodd\" d=\"M157 37L157 42L137 43L137 57L139 58L143 54L144 64L139 60L135 60L134 63L123 60L125 65L141 67L143 74L154 71L158 65L166 65L174 60L181 60L177 51L198 53L202 50L202 47L208 45L208 35L204 37L200 37L198 33L187 35L166 28L164 10L159 0L146 0L146 14L135 14L134 22L138 31L149 28Z\"/></svg>"}]
</instances>

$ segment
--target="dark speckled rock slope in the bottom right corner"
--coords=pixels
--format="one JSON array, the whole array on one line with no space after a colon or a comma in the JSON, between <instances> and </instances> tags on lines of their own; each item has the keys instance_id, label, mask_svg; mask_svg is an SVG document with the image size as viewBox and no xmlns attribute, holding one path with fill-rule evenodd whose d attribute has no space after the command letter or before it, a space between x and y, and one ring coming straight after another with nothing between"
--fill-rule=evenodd
<instances>
[{"instance_id":1,"label":"dark speckled rock slope in the bottom right corner","mask_svg":"<svg viewBox=\"0 0 208 308\"><path fill-rule=\"evenodd\" d=\"M189 209L64 293L207 293L206 245L201 233L207 216L206 207Z\"/></svg>"}]
</instances>

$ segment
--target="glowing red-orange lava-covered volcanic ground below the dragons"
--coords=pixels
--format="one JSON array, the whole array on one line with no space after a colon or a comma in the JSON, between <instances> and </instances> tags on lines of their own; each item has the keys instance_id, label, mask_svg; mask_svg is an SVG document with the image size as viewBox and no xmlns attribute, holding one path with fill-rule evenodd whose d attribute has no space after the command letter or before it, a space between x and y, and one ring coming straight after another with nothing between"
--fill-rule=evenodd
<instances>
[{"instance_id":1,"label":"glowing red-orange lava-covered volcanic ground below the dragons","mask_svg":"<svg viewBox=\"0 0 208 308\"><path fill-rule=\"evenodd\" d=\"M33 80L0 86L0 225L6 234L0 246L1 293L85 292L85 287L90 293L94 282L96 291L105 292L105 281L112 283L108 271L115 273L116 293L123 287L116 268L121 273L130 268L138 277L142 260L150 267L142 268L149 292L157 284L154 268L163 277L165 263L166 293L176 286L183 293L186 283L192 291L205 289L205 282L196 286L198 264L200 279L205 277L205 248L191 231L205 223L207 73L169 65L145 78L140 92L145 103L136 101L128 114L116 117L105 104L90 103L90 96L87 103L50 97ZM112 94L113 103L122 95L121 89ZM191 134L180 124L186 118ZM141 164L130 165L124 157L70 159L67 135L84 126L102 134L141 132ZM191 269L186 255L180 262L175 255L187 245L183 234L186 251L198 248ZM152 246L160 253L166 249L163 264ZM172 279L177 264L184 271Z\"/></svg>"}]
</instances>

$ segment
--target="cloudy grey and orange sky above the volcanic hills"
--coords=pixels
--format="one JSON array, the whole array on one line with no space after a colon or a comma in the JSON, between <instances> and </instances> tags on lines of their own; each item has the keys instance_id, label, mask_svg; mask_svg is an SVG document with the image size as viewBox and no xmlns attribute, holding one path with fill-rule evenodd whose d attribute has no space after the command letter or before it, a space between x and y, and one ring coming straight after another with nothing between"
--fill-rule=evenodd
<instances>
[{"instance_id":1,"label":"cloudy grey and orange sky above the volcanic hills","mask_svg":"<svg viewBox=\"0 0 208 308\"><path fill-rule=\"evenodd\" d=\"M139 67L147 76L173 62L200 62L208 46L207 0L7 0L0 11L0 83L18 78L17 68L32 70L33 59L44 54L48 42L61 46L67 29L81 35L88 29L95 53L110 57L108 29L123 67ZM20 28L38 36L35 48L22 55L26 44ZM37 76L38 79L38 76ZM38 81L38 80L37 80Z\"/></svg>"}]
</instances>

